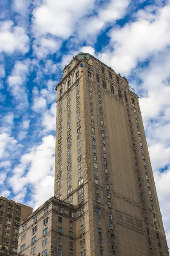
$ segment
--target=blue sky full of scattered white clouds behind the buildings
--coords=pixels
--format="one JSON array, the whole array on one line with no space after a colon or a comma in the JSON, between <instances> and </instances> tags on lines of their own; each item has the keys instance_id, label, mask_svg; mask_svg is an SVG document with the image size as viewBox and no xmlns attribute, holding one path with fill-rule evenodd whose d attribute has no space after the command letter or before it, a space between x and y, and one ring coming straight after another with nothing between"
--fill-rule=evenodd
<instances>
[{"instance_id":1,"label":"blue sky full of scattered white clouds behind the buildings","mask_svg":"<svg viewBox=\"0 0 170 256\"><path fill-rule=\"evenodd\" d=\"M34 208L54 191L55 86L78 52L140 96L170 244L170 1L0 0L0 195Z\"/></svg>"}]
</instances>

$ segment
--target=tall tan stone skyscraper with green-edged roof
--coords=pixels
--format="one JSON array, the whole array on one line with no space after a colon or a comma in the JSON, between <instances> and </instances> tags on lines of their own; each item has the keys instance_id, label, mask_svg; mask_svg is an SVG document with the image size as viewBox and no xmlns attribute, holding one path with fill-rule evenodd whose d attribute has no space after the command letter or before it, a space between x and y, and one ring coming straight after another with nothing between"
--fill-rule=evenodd
<instances>
[{"instance_id":1,"label":"tall tan stone skyscraper with green-edged roof","mask_svg":"<svg viewBox=\"0 0 170 256\"><path fill-rule=\"evenodd\" d=\"M72 235L57 232L57 255L169 255L138 96L126 78L80 52L56 90L55 196L74 207Z\"/></svg>"}]
</instances>

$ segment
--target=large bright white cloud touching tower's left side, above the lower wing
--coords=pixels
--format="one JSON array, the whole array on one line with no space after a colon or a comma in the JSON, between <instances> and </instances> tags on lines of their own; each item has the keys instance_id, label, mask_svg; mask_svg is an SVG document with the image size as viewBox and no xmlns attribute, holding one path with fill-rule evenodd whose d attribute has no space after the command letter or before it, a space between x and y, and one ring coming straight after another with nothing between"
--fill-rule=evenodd
<instances>
[{"instance_id":1,"label":"large bright white cloud touching tower's left side, above the lower wing","mask_svg":"<svg viewBox=\"0 0 170 256\"><path fill-rule=\"evenodd\" d=\"M20 202L26 200L27 188L31 187L31 204L37 207L43 203L43 196L53 195L55 138L52 135L43 137L40 145L28 151L15 166L8 186L15 194L15 200Z\"/></svg>"}]
</instances>

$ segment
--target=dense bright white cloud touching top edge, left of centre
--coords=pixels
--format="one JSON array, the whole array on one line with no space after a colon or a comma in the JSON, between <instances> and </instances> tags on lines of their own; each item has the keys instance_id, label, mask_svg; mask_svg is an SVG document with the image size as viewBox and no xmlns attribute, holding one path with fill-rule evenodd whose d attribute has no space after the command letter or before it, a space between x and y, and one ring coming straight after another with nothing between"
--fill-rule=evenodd
<instances>
[{"instance_id":1,"label":"dense bright white cloud touching top edge, left of centre","mask_svg":"<svg viewBox=\"0 0 170 256\"><path fill-rule=\"evenodd\" d=\"M34 29L42 35L50 33L66 39L73 33L77 21L93 8L94 0L45 0L33 11Z\"/></svg>"}]
</instances>

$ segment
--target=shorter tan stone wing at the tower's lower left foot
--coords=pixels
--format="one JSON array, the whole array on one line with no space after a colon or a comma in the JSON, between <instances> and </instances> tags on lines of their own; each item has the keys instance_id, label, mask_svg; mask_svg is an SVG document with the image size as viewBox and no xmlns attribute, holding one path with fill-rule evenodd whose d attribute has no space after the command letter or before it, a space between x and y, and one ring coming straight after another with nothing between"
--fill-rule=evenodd
<instances>
[{"instance_id":1,"label":"shorter tan stone wing at the tower's lower left foot","mask_svg":"<svg viewBox=\"0 0 170 256\"><path fill-rule=\"evenodd\" d=\"M18 251L24 255L75 256L81 248L80 255L85 256L86 207L50 198L21 222Z\"/></svg>"}]
</instances>

